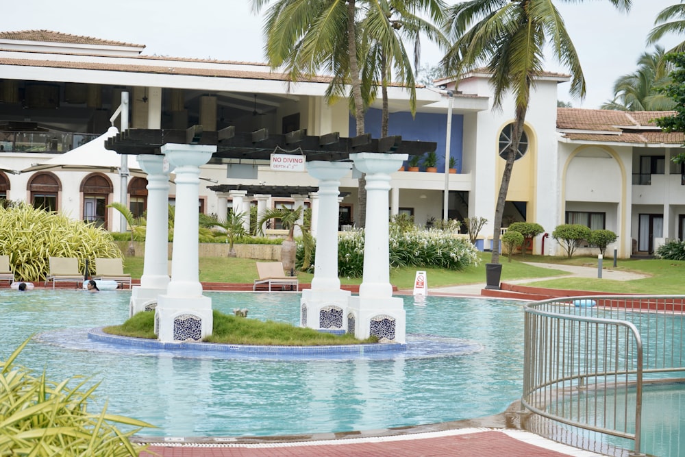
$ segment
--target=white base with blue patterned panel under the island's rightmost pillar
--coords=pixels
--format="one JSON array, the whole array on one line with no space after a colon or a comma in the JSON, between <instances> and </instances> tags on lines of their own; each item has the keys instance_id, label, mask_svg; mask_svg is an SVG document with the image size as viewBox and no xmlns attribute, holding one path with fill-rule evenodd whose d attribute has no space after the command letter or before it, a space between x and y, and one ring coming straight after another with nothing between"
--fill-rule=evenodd
<instances>
[{"instance_id":1,"label":"white base with blue patterned panel under the island's rightmost pillar","mask_svg":"<svg viewBox=\"0 0 685 457\"><path fill-rule=\"evenodd\" d=\"M398 297L350 297L347 308L347 331L359 339L371 335L406 344L407 318L404 301Z\"/></svg>"}]
</instances>

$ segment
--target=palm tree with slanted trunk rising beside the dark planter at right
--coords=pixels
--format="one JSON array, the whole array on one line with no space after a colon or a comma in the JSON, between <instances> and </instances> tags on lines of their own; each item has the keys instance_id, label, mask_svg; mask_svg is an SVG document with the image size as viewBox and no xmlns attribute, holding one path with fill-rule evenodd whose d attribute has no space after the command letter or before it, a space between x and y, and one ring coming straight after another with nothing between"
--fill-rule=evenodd
<instances>
[{"instance_id":1,"label":"palm tree with slanted trunk rising beside the dark planter at right","mask_svg":"<svg viewBox=\"0 0 685 457\"><path fill-rule=\"evenodd\" d=\"M630 10L631 0L609 0L616 8ZM555 58L571 73L571 94L585 96L585 78L580 59L558 10L549 0L469 0L457 3L447 12L446 34L453 37L443 64L450 75L484 65L492 74L493 108L500 109L503 98L514 97L512 141L495 206L493 256L499 263L499 232L504 203L516 153L523 134L530 88L543 72L543 51L549 43Z\"/></svg>"}]
</instances>

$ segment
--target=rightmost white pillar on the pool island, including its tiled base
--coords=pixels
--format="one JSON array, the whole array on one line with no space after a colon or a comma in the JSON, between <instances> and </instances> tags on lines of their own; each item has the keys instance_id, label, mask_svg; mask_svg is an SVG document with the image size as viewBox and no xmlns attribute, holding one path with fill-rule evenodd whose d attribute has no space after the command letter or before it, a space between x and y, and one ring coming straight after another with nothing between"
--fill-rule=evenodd
<instances>
[{"instance_id":1,"label":"rightmost white pillar on the pool island, including its tiled base","mask_svg":"<svg viewBox=\"0 0 685 457\"><path fill-rule=\"evenodd\" d=\"M364 277L359 295L349 299L348 325L354 325L357 338L375 335L405 343L403 300L393 297L390 284L388 191L390 173L397 171L408 155L360 152L349 157L357 169L366 173L366 228Z\"/></svg>"}]
</instances>

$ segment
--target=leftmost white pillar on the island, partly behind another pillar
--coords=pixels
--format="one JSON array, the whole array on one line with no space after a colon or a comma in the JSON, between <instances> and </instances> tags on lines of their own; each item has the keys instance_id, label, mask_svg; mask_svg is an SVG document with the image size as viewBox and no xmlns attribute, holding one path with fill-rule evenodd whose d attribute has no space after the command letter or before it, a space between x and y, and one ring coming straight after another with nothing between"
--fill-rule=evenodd
<instances>
[{"instance_id":1,"label":"leftmost white pillar on the island, partly behind another pillar","mask_svg":"<svg viewBox=\"0 0 685 457\"><path fill-rule=\"evenodd\" d=\"M129 317L155 308L158 295L166 293L169 285L169 173L173 166L164 166L163 160L164 156L138 156L140 168L147 173L147 236L140 286L134 286L131 293Z\"/></svg>"}]
</instances>

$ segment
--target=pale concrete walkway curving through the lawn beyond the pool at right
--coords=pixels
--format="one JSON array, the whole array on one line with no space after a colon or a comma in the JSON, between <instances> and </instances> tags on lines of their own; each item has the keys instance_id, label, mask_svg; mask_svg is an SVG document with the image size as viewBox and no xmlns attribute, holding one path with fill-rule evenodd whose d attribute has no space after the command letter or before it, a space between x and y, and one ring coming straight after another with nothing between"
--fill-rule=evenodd
<instances>
[{"instance_id":1,"label":"pale concrete walkway curving through the lawn beyond the pool at right","mask_svg":"<svg viewBox=\"0 0 685 457\"><path fill-rule=\"evenodd\" d=\"M598 269L595 265L594 267L580 267L577 265L561 265L554 263L538 263L538 262L523 262L534 267L547 268L550 270L563 271L566 274L558 274L556 271L550 271L549 277L529 277L525 280L507 280L507 284L526 284L529 282L538 282L545 280L558 280L563 277L591 277L596 278ZM614 281L632 281L640 280L647 277L647 275L642 275L640 273L631 273L630 271L613 270L610 268L602 269L602 279L614 280ZM428 278L428 284L430 284L430 278ZM477 284L465 284L463 286L447 286L447 287L435 287L428 288L428 293L436 293L439 295L449 294L449 295L480 295L480 291L486 286L485 282L479 282Z\"/></svg>"}]
</instances>

